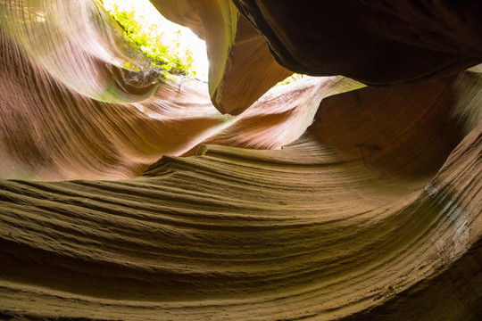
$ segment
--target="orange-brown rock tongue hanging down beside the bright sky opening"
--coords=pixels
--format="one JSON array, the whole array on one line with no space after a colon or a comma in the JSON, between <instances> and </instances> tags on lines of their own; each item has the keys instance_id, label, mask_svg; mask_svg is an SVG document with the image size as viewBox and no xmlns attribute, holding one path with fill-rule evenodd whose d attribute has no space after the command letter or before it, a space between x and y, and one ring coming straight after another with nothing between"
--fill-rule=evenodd
<instances>
[{"instance_id":1,"label":"orange-brown rock tongue hanging down beside the bright sky opening","mask_svg":"<svg viewBox=\"0 0 482 321\"><path fill-rule=\"evenodd\" d=\"M245 111L261 95L293 72L281 67L268 45L229 0L152 3L168 19L204 37L209 65L209 93L225 113Z\"/></svg>"}]
</instances>

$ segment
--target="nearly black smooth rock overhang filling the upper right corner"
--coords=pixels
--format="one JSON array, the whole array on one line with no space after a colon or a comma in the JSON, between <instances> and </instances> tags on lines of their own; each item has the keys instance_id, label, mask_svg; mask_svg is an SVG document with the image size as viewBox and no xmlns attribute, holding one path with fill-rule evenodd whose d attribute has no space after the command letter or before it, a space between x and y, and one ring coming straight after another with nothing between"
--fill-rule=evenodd
<instances>
[{"instance_id":1,"label":"nearly black smooth rock overhang filling the upper right corner","mask_svg":"<svg viewBox=\"0 0 482 321\"><path fill-rule=\"evenodd\" d=\"M367 85L412 83L482 62L482 4L471 1L233 0L278 62Z\"/></svg>"}]
</instances>

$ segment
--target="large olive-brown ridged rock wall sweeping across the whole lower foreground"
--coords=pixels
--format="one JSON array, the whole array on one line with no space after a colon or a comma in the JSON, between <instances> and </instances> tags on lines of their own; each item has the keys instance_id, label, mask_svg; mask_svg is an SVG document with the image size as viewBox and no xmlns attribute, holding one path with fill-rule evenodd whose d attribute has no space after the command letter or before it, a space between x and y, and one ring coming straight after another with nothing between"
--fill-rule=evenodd
<instances>
[{"instance_id":1,"label":"large olive-brown ridged rock wall sweeping across the whole lower foreground","mask_svg":"<svg viewBox=\"0 0 482 321\"><path fill-rule=\"evenodd\" d=\"M475 320L481 81L332 96L281 151L208 146L128 181L4 181L4 314ZM340 120L338 103L360 117ZM324 134L362 115L386 124L379 108L419 112L337 136L358 153Z\"/></svg>"}]
</instances>

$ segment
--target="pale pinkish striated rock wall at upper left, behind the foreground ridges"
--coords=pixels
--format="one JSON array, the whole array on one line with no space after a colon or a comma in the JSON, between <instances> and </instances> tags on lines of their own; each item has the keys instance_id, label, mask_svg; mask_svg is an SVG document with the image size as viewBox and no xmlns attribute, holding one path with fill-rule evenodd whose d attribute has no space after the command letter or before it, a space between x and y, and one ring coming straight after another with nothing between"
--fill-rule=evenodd
<instances>
[{"instance_id":1,"label":"pale pinkish striated rock wall at upper left, behind the foreground ridges","mask_svg":"<svg viewBox=\"0 0 482 321\"><path fill-rule=\"evenodd\" d=\"M136 177L162 155L193 154L213 136L245 146L250 133L271 128L259 119L276 118L280 112L276 106L263 111L257 107L257 112L238 118L223 116L210 102L204 83L173 77L160 81L92 2L0 5L6 17L0 43L3 179ZM144 71L118 67L127 60ZM281 87L287 94L277 90L286 103L282 111L291 113L289 124L276 122L277 130L292 134L289 139L260 136L250 147L280 147L295 140L323 96L358 86L328 80L310 80L309 86L325 87L316 98L289 94L290 86ZM234 127L241 119L258 125ZM216 142L222 144L222 139Z\"/></svg>"}]
</instances>

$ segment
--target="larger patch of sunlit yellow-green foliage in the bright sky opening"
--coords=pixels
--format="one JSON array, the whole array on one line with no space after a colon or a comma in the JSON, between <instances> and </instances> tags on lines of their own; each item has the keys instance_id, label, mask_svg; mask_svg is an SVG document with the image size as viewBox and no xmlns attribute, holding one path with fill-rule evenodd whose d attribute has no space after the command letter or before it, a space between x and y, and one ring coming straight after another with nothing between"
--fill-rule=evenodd
<instances>
[{"instance_id":1,"label":"larger patch of sunlit yellow-green foliage in the bright sky opening","mask_svg":"<svg viewBox=\"0 0 482 321\"><path fill-rule=\"evenodd\" d=\"M145 29L137 21L134 11L120 11L116 5L109 13L119 23L124 30L124 34L132 41L133 47L142 51L151 61L154 69L164 70L175 75L195 77L193 53L189 50L184 53L179 52L179 33L172 45L166 45L162 40L162 32L158 29L158 26ZM129 62L126 62L122 67L129 69Z\"/></svg>"}]
</instances>

